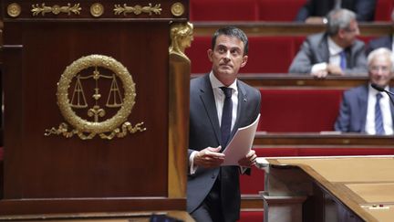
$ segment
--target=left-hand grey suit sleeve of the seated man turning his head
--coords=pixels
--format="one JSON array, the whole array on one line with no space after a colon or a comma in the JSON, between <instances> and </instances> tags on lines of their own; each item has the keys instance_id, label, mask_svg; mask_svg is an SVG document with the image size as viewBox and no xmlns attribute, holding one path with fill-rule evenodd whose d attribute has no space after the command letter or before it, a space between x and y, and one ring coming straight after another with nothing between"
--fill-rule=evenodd
<instances>
[{"instance_id":1,"label":"left-hand grey suit sleeve of the seated man turning his head","mask_svg":"<svg viewBox=\"0 0 394 222\"><path fill-rule=\"evenodd\" d=\"M300 50L296 54L296 58L293 59L288 72L309 74L311 72L312 66L314 65L311 62L312 56L312 48L308 39L306 38Z\"/></svg>"}]
</instances>

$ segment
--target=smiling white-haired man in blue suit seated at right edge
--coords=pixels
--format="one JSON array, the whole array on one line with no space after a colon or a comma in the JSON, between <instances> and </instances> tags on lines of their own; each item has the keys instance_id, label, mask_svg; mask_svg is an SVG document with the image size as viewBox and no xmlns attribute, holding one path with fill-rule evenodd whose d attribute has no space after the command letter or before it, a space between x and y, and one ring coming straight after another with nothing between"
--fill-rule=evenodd
<instances>
[{"instance_id":1,"label":"smiling white-haired man in blue suit seated at right edge","mask_svg":"<svg viewBox=\"0 0 394 222\"><path fill-rule=\"evenodd\" d=\"M374 83L385 90L393 76L391 51L378 48L368 55L369 82L346 90L340 106L335 130L368 134L393 134L394 106L387 93L371 87Z\"/></svg>"}]
</instances>

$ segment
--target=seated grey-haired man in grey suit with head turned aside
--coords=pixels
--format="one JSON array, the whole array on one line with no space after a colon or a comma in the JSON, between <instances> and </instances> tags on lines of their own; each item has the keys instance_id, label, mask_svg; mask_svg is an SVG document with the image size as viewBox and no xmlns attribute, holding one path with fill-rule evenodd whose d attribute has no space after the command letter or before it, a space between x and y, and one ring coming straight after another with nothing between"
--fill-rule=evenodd
<instances>
[{"instance_id":1,"label":"seated grey-haired man in grey suit with head turned aside","mask_svg":"<svg viewBox=\"0 0 394 222\"><path fill-rule=\"evenodd\" d=\"M358 40L356 15L347 9L335 9L327 16L325 33L306 37L289 68L289 73L367 76L365 45Z\"/></svg>"}]
</instances>

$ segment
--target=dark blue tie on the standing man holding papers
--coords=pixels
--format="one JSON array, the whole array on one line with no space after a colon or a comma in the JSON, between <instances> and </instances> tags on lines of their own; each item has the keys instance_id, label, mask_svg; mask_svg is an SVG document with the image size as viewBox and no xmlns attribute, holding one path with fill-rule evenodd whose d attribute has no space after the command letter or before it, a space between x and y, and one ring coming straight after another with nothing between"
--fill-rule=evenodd
<instances>
[{"instance_id":1,"label":"dark blue tie on the standing man holding papers","mask_svg":"<svg viewBox=\"0 0 394 222\"><path fill-rule=\"evenodd\" d=\"M223 104L223 112L222 112L222 124L221 124L221 132L222 132L222 148L224 149L230 139L231 133L231 123L233 116L233 101L232 97L232 89L227 87L221 87L221 90L224 92L224 104Z\"/></svg>"}]
</instances>

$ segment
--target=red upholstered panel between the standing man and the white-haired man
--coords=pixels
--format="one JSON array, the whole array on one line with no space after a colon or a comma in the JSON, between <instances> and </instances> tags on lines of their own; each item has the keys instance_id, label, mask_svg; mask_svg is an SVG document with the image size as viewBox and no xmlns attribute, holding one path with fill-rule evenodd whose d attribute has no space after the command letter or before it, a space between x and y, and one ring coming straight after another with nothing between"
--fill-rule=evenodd
<instances>
[{"instance_id":1,"label":"red upholstered panel between the standing man and the white-haired man","mask_svg":"<svg viewBox=\"0 0 394 222\"><path fill-rule=\"evenodd\" d=\"M343 90L260 89L258 131L333 131Z\"/></svg>"}]
</instances>

